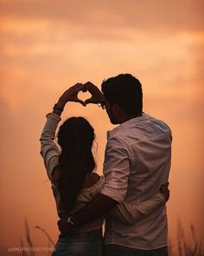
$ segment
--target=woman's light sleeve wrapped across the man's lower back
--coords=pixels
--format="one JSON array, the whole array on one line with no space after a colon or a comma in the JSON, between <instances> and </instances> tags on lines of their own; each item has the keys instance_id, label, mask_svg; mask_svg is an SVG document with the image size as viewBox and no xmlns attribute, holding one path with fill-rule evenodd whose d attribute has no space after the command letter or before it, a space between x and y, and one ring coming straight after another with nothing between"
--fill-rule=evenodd
<instances>
[{"instance_id":1,"label":"woman's light sleeve wrapped across the man's lower back","mask_svg":"<svg viewBox=\"0 0 204 256\"><path fill-rule=\"evenodd\" d=\"M165 203L166 200L163 194L158 193L150 200L145 200L137 204L123 201L117 207L112 209L110 215L114 217L115 220L119 220L125 224L134 224L137 220L154 212L158 207L164 206Z\"/></svg>"}]
</instances>

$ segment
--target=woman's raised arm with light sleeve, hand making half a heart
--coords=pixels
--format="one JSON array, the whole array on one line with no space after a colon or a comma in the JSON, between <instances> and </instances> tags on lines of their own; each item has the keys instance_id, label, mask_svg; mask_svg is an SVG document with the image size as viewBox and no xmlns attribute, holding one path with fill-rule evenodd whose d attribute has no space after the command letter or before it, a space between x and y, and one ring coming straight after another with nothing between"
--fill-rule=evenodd
<instances>
[{"instance_id":1,"label":"woman's raised arm with light sleeve, hand making half a heart","mask_svg":"<svg viewBox=\"0 0 204 256\"><path fill-rule=\"evenodd\" d=\"M55 170L59 164L59 148L54 141L56 128L61 121L61 113L67 102L80 102L84 105L84 102L78 99L78 93L84 89L84 85L81 83L75 84L73 87L67 89L60 97L58 102L54 105L52 113L46 115L47 121L41 133L41 156L44 161L44 165L47 170L48 178L50 181L56 181L54 178ZM59 176L59 175L55 175Z\"/></svg>"}]
</instances>

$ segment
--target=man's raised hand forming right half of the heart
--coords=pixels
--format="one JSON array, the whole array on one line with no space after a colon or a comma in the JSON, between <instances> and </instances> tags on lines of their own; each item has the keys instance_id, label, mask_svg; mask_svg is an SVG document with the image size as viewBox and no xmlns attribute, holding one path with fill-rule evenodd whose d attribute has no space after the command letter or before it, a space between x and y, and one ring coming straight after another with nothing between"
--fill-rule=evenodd
<instances>
[{"instance_id":1,"label":"man's raised hand forming right half of the heart","mask_svg":"<svg viewBox=\"0 0 204 256\"><path fill-rule=\"evenodd\" d=\"M92 82L86 82L84 84L83 92L86 92L86 91L88 91L92 95L92 97L85 101L85 105L89 103L99 104L104 101L104 95L99 90L99 88L95 86Z\"/></svg>"}]
</instances>

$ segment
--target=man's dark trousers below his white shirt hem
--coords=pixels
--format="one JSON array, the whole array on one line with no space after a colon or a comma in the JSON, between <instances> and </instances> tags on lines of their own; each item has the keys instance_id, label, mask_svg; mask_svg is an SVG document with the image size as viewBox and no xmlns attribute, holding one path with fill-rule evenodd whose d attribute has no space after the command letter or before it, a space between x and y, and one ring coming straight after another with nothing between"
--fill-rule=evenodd
<instances>
[{"instance_id":1,"label":"man's dark trousers below his white shirt hem","mask_svg":"<svg viewBox=\"0 0 204 256\"><path fill-rule=\"evenodd\" d=\"M168 256L167 246L155 250L138 250L125 246L107 245L105 256Z\"/></svg>"}]
</instances>

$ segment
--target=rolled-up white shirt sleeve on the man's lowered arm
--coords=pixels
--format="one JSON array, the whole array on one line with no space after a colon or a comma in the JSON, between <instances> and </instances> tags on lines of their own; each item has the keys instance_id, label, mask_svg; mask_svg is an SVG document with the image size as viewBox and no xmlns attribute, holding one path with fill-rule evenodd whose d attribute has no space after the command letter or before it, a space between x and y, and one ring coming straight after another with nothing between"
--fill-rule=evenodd
<instances>
[{"instance_id":1,"label":"rolled-up white shirt sleeve on the man's lowered arm","mask_svg":"<svg viewBox=\"0 0 204 256\"><path fill-rule=\"evenodd\" d=\"M118 202L124 200L130 174L130 156L127 145L117 136L107 141L103 172L105 184L100 193Z\"/></svg>"}]
</instances>

